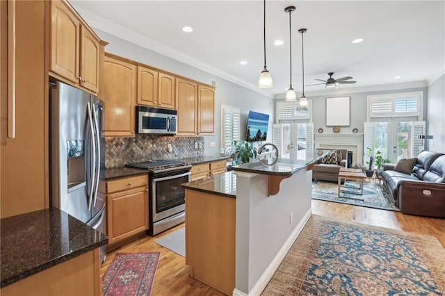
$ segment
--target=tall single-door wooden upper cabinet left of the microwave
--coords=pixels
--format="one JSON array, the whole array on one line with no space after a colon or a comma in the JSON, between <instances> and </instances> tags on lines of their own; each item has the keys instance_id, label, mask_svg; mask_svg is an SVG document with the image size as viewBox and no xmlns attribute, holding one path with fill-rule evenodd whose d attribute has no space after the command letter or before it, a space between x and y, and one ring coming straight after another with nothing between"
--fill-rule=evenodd
<instances>
[{"instance_id":1,"label":"tall single-door wooden upper cabinet left of the microwave","mask_svg":"<svg viewBox=\"0 0 445 296\"><path fill-rule=\"evenodd\" d=\"M124 60L104 59L104 135L134 136L137 67Z\"/></svg>"}]
</instances>

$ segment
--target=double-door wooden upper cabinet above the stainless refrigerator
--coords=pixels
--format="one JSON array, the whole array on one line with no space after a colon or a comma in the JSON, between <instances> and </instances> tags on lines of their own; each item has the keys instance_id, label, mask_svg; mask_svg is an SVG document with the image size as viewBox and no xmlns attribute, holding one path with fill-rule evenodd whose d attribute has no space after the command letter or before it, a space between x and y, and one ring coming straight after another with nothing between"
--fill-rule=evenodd
<instances>
[{"instance_id":1,"label":"double-door wooden upper cabinet above the stainless refrigerator","mask_svg":"<svg viewBox=\"0 0 445 296\"><path fill-rule=\"evenodd\" d=\"M97 94L100 40L65 1L51 4L50 60L52 76Z\"/></svg>"}]
</instances>

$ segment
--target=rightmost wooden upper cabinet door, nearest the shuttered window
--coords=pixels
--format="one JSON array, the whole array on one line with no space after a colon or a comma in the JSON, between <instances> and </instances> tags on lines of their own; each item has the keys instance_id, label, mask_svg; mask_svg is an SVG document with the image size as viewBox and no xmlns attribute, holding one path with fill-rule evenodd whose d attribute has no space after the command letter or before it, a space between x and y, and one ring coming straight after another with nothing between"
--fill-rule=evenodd
<instances>
[{"instance_id":1,"label":"rightmost wooden upper cabinet door, nearest the shuttered window","mask_svg":"<svg viewBox=\"0 0 445 296\"><path fill-rule=\"evenodd\" d=\"M198 134L213 134L215 122L215 90L205 85L198 85L197 132Z\"/></svg>"}]
</instances>

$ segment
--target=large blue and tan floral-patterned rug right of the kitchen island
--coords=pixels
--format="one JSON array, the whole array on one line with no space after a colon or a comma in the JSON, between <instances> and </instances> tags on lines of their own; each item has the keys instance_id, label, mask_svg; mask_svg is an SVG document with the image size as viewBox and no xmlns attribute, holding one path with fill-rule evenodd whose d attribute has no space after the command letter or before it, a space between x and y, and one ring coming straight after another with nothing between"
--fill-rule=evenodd
<instances>
[{"instance_id":1,"label":"large blue and tan floral-patterned rug right of the kitchen island","mask_svg":"<svg viewBox=\"0 0 445 296\"><path fill-rule=\"evenodd\" d=\"M444 295L439 240L312 215L263 295Z\"/></svg>"}]
</instances>

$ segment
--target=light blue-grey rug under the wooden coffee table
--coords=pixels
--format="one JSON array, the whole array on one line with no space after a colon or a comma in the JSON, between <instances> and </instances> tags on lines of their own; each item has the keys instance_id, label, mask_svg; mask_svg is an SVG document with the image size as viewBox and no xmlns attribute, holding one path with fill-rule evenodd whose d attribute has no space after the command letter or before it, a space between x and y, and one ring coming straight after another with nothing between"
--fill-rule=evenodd
<instances>
[{"instance_id":1,"label":"light blue-grey rug under the wooden coffee table","mask_svg":"<svg viewBox=\"0 0 445 296\"><path fill-rule=\"evenodd\" d=\"M346 181L344 186L346 190L358 191L358 182ZM343 186L342 186L343 188ZM354 206L366 206L368 208L380 208L382 210L400 211L392 202L390 202L388 192L378 183L364 182L363 195L341 192L338 196L338 183L327 181L312 181L312 198L325 200L327 202L339 202L341 204L353 204ZM351 199L360 198L358 199Z\"/></svg>"}]
</instances>

